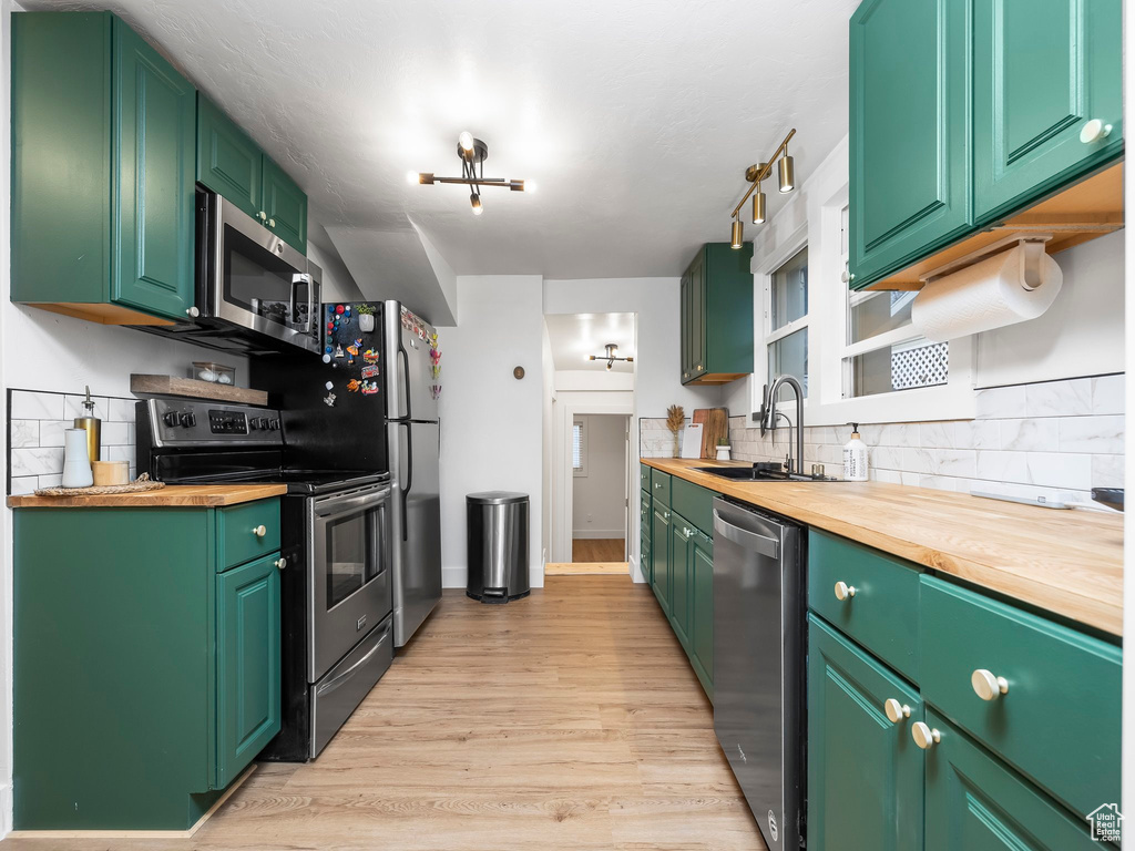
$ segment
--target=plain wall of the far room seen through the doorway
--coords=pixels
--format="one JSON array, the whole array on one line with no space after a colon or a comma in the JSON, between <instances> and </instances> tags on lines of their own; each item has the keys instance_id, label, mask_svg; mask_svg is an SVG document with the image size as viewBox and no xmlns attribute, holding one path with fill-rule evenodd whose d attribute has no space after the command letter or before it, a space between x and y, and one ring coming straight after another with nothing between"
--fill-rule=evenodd
<instances>
[{"instance_id":1,"label":"plain wall of the far room seen through the doorway","mask_svg":"<svg viewBox=\"0 0 1135 851\"><path fill-rule=\"evenodd\" d=\"M572 537L623 538L627 534L628 418L582 414L587 444L586 475L572 475Z\"/></svg>"}]
</instances>

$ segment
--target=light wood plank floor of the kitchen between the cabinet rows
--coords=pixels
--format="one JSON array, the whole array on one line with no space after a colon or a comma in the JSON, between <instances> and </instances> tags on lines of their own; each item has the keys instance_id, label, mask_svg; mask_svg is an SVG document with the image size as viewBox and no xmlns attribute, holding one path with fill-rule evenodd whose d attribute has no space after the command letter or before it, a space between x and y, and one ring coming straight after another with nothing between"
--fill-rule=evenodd
<instances>
[{"instance_id":1,"label":"light wood plank floor of the kitchen between the cabinet rows","mask_svg":"<svg viewBox=\"0 0 1135 851\"><path fill-rule=\"evenodd\" d=\"M446 591L318 760L261 766L192 840L0 843L48 849L765 845L649 589L578 576L504 606Z\"/></svg>"}]
</instances>

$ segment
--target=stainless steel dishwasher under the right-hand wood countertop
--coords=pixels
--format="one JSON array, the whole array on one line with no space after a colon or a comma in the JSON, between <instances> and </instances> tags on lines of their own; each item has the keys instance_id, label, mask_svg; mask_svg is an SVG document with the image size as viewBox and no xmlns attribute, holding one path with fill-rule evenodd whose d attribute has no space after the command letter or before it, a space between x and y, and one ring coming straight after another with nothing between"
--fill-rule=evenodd
<instances>
[{"instance_id":1,"label":"stainless steel dishwasher under the right-hand wood countertop","mask_svg":"<svg viewBox=\"0 0 1135 851\"><path fill-rule=\"evenodd\" d=\"M771 851L804 837L802 529L713 504L714 728Z\"/></svg>"}]
</instances>

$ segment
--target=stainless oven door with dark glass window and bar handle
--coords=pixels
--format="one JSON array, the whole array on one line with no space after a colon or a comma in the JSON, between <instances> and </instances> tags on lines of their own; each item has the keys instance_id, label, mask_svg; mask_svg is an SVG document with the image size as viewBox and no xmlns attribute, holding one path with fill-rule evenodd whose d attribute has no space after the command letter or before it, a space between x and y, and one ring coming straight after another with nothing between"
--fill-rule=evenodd
<instances>
[{"instance_id":1,"label":"stainless oven door with dark glass window and bar handle","mask_svg":"<svg viewBox=\"0 0 1135 851\"><path fill-rule=\"evenodd\" d=\"M390 486L308 500L308 682L346 656L392 609Z\"/></svg>"}]
</instances>

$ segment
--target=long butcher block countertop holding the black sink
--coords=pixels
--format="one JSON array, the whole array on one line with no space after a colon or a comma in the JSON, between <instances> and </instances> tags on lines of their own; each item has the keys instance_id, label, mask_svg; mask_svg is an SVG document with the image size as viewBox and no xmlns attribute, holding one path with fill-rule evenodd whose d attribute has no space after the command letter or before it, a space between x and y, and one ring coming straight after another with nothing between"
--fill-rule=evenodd
<instances>
[{"instance_id":1,"label":"long butcher block countertop holding the black sink","mask_svg":"<svg viewBox=\"0 0 1135 851\"><path fill-rule=\"evenodd\" d=\"M735 482L693 470L726 466L718 462L641 461L758 508L1123 634L1121 514L1056 511L882 482Z\"/></svg>"}]
</instances>

